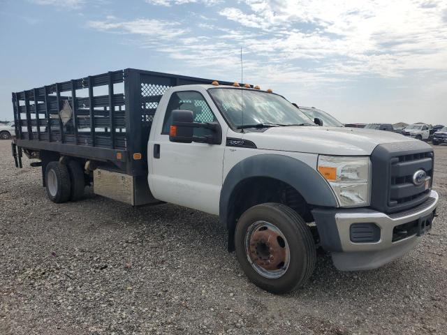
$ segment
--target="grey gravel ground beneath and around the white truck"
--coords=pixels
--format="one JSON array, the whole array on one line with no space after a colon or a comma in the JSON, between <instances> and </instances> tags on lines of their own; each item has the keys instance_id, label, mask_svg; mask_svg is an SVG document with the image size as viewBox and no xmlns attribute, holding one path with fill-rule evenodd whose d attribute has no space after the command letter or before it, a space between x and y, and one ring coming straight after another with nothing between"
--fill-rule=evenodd
<instances>
[{"instance_id":1,"label":"grey gravel ground beneath and around the white truck","mask_svg":"<svg viewBox=\"0 0 447 335\"><path fill-rule=\"evenodd\" d=\"M54 204L41 172L0 141L0 334L447 334L447 147L432 231L365 272L319 256L290 295L256 288L215 216L132 209L94 194Z\"/></svg>"}]
</instances>

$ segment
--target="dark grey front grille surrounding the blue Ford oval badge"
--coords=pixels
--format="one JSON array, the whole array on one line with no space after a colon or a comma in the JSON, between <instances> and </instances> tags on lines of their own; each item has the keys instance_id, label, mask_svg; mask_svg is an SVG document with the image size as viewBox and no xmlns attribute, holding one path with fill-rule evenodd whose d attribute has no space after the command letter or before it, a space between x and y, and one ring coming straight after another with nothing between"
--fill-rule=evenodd
<instances>
[{"instance_id":1,"label":"dark grey front grille surrounding the blue Ford oval badge","mask_svg":"<svg viewBox=\"0 0 447 335\"><path fill-rule=\"evenodd\" d=\"M381 144L372 161L371 207L395 213L416 207L430 195L433 179L433 151L425 142ZM427 184L413 184L413 174L424 170Z\"/></svg>"}]
</instances>

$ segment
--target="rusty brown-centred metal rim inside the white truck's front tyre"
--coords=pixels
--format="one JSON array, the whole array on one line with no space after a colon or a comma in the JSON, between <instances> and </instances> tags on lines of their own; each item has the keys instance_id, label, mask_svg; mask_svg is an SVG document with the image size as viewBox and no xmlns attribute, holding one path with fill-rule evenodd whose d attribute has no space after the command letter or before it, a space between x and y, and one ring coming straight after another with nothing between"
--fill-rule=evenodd
<instances>
[{"instance_id":1,"label":"rusty brown-centred metal rim inside the white truck's front tyre","mask_svg":"<svg viewBox=\"0 0 447 335\"><path fill-rule=\"evenodd\" d=\"M283 276L291 258L284 234L266 221L256 221L247 229L245 253L251 267L265 278Z\"/></svg>"}]
</instances>

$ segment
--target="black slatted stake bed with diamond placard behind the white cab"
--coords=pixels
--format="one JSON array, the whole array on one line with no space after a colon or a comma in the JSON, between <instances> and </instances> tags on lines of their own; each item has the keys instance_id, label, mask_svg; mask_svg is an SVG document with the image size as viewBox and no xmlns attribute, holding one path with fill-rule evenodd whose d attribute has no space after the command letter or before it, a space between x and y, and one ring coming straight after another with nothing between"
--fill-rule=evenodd
<instances>
[{"instance_id":1,"label":"black slatted stake bed with diamond placard behind the white cab","mask_svg":"<svg viewBox=\"0 0 447 335\"><path fill-rule=\"evenodd\" d=\"M147 140L163 93L173 86L211 82L126 68L15 92L15 144L29 151L87 158L143 176ZM133 154L141 158L134 159Z\"/></svg>"}]
</instances>

